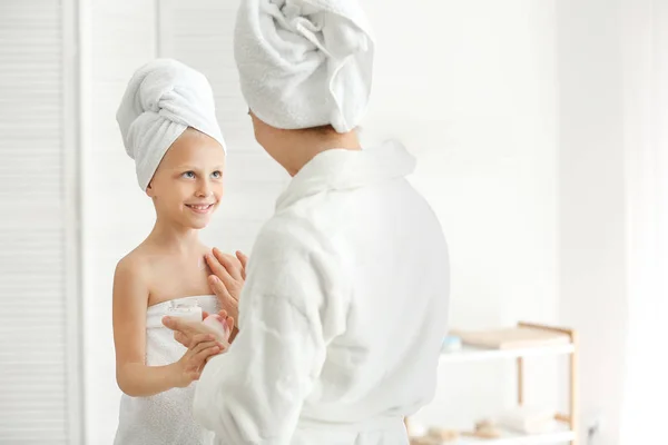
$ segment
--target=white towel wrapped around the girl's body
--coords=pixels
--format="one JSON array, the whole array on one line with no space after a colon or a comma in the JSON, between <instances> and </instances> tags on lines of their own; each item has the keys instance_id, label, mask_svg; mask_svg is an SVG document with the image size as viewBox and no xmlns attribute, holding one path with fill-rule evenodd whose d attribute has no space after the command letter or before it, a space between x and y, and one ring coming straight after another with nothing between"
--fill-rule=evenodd
<instances>
[{"instance_id":1,"label":"white towel wrapped around the girl's body","mask_svg":"<svg viewBox=\"0 0 668 445\"><path fill-rule=\"evenodd\" d=\"M163 326L163 317L174 315L173 304L197 303L209 314L218 312L213 295L185 297L151 306L146 312L146 364L165 366L177 362L186 348L174 339L174 333ZM122 395L115 445L210 445L214 434L193 417L196 383L186 388L173 388L151 397Z\"/></svg>"}]
</instances>

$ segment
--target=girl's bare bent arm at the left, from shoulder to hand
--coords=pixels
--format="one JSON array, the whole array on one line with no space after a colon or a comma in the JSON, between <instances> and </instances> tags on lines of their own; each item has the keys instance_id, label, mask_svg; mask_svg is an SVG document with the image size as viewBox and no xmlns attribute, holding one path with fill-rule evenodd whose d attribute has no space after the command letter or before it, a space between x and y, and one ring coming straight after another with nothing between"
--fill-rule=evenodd
<instances>
[{"instance_id":1,"label":"girl's bare bent arm at the left, from shoulder to hand","mask_svg":"<svg viewBox=\"0 0 668 445\"><path fill-rule=\"evenodd\" d=\"M207 354L219 352L215 342L166 366L146 365L146 274L138 261L124 258L114 277L114 343L116 345L116 382L132 397L153 396L175 387L186 387L199 378ZM199 363L200 362L200 363Z\"/></svg>"}]
</instances>

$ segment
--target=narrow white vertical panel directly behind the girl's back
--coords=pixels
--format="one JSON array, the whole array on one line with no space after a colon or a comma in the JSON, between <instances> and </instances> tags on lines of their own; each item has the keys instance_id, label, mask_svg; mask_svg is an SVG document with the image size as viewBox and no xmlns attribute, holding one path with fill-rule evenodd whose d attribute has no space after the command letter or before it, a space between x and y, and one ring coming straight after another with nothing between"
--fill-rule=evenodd
<instances>
[{"instance_id":1,"label":"narrow white vertical panel directly behind the girl's back","mask_svg":"<svg viewBox=\"0 0 668 445\"><path fill-rule=\"evenodd\" d=\"M154 0L90 0L82 10L86 443L111 444L118 419L111 330L116 263L150 230L115 113L129 75L155 57Z\"/></svg>"}]
</instances>

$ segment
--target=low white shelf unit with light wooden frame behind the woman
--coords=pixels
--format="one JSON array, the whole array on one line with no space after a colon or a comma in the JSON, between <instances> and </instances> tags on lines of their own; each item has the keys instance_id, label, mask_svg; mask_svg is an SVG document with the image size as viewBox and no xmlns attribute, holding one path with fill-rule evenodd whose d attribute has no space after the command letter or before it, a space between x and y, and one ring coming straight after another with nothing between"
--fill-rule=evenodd
<instances>
[{"instance_id":1,"label":"low white shelf unit with light wooden frame behind the woman","mask_svg":"<svg viewBox=\"0 0 668 445\"><path fill-rule=\"evenodd\" d=\"M498 438L480 438L462 435L458 441L449 442L448 445L548 445L570 443L578 445L578 335L573 329L546 326L532 323L519 323L519 328L539 329L550 333L564 334L569 343L559 345L533 346L511 349L494 349L463 346L461 350L443 353L440 366L485 362L494 359L514 359L518 370L518 404L524 403L524 358L533 356L569 356L569 409L566 414L557 414L556 421L559 428L546 434L522 435L513 432L503 432ZM410 418L406 418L406 427L410 432Z\"/></svg>"}]
</instances>

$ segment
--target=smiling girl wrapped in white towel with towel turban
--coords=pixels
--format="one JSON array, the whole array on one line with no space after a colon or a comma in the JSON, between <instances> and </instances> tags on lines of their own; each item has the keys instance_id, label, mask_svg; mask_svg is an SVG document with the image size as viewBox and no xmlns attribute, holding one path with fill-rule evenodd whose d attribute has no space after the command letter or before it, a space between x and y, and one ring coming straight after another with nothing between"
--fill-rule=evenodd
<instances>
[{"instance_id":1,"label":"smiling girl wrapped in white towel with towel turban","mask_svg":"<svg viewBox=\"0 0 668 445\"><path fill-rule=\"evenodd\" d=\"M212 434L193 418L193 383L226 349L233 319L220 318L225 334L203 335L190 350L160 319L219 309L207 284L209 249L198 239L220 202L225 169L210 86L183 63L153 61L130 80L117 120L156 222L114 279L116 375L125 393L115 444L209 444Z\"/></svg>"}]
</instances>

